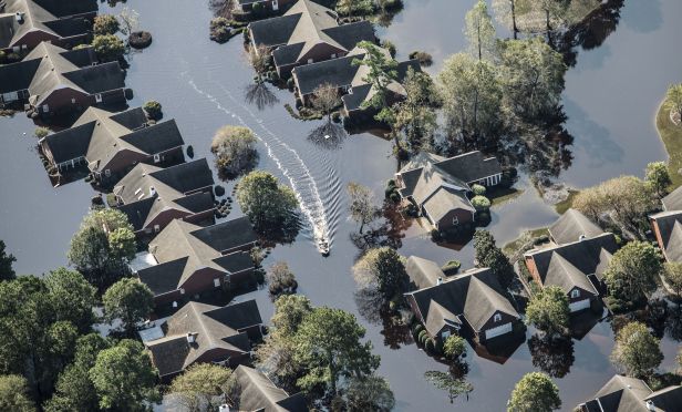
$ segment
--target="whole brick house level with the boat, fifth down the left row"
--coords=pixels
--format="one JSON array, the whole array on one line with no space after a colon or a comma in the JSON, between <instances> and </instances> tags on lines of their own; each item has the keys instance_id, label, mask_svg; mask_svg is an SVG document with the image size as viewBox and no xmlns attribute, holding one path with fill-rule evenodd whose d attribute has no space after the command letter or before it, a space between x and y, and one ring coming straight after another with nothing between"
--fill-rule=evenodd
<instances>
[{"instance_id":1,"label":"whole brick house level with the boat, fifth down the left row","mask_svg":"<svg viewBox=\"0 0 682 412\"><path fill-rule=\"evenodd\" d=\"M249 251L257 237L248 218L200 227L172 220L149 243L146 265L132 267L156 305L199 299L203 293L254 281Z\"/></svg>"}]
</instances>

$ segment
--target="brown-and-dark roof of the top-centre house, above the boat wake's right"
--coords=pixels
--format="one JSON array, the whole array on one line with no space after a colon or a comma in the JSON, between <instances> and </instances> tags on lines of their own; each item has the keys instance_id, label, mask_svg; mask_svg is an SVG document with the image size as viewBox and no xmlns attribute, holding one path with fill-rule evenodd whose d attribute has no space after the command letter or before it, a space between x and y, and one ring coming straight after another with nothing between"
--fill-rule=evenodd
<instances>
[{"instance_id":1,"label":"brown-and-dark roof of the top-centre house, above the boat wake's right","mask_svg":"<svg viewBox=\"0 0 682 412\"><path fill-rule=\"evenodd\" d=\"M272 52L278 66L298 62L317 44L348 52L360 41L375 39L369 21L339 25L337 18L331 9L299 0L283 16L252 22L249 29L257 45L278 47Z\"/></svg>"}]
</instances>

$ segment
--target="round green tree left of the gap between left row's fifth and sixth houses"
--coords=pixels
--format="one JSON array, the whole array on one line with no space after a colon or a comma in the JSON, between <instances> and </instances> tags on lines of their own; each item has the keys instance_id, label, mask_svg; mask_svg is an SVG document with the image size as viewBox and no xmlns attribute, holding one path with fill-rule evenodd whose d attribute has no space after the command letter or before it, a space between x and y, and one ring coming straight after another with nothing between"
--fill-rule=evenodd
<instances>
[{"instance_id":1,"label":"round green tree left of the gap between left row's fifth and sixth houses","mask_svg":"<svg viewBox=\"0 0 682 412\"><path fill-rule=\"evenodd\" d=\"M121 319L127 336L147 319L154 308L154 293L137 279L124 278L112 285L102 297L104 316L110 322Z\"/></svg>"}]
</instances>

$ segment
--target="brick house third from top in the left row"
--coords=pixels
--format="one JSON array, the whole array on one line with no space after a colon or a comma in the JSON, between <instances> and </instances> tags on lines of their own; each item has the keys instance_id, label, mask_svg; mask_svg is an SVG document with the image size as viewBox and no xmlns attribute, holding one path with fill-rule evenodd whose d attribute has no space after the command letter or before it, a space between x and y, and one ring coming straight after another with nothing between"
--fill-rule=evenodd
<instances>
[{"instance_id":1,"label":"brick house third from top in the left row","mask_svg":"<svg viewBox=\"0 0 682 412\"><path fill-rule=\"evenodd\" d=\"M174 120L148 124L141 107L120 113L90 107L71 128L40 141L60 173L86 165L97 182L116 182L140 163L184 161L185 142Z\"/></svg>"}]
</instances>

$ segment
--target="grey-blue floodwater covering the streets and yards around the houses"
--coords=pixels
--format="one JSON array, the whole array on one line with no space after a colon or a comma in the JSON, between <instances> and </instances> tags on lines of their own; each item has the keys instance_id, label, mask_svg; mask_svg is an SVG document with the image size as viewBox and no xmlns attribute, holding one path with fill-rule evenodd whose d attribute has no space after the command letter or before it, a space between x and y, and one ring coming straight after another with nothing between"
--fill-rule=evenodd
<instances>
[{"instance_id":1,"label":"grey-blue floodwater covering the streets and yards around the houses","mask_svg":"<svg viewBox=\"0 0 682 412\"><path fill-rule=\"evenodd\" d=\"M464 48L461 28L473 2L407 0L393 23L379 33L393 41L403 56L417 49L432 53L433 72L444 58ZM535 370L527 342L504 364L469 351L467 380L474 391L468 401L459 398L451 404L445 392L423 378L424 372L443 371L445 365L413 343L400 343L397 349L385 344L381 322L371 322L359 312L350 274L358 256L350 235L358 227L349 219L344 186L359 182L381 198L384 183L396 167L390 156L391 143L359 134L345 137L333 148L317 145L308 135L322 123L290 117L283 104L293 105L293 96L287 91L272 90L279 102L262 111L246 104L252 72L242 58L240 39L223 45L210 42L210 12L205 4L196 2L189 12L182 0L128 0L125 6L140 13L142 27L154 35L149 49L130 59L126 84L135 92L131 104L159 101L165 117L176 119L186 143L194 146L195 158L210 158L210 140L221 125L242 124L258 134L259 167L297 190L306 223L297 241L276 247L266 264L287 261L298 278L299 292L314 305L358 315L368 329L366 338L382 357L379 372L391 382L396 410L504 410L514 384L524 373ZM107 6L102 4L102 9L105 12ZM570 184L583 186L621 173L641 174L647 162L663 158L653 113L665 86L680 81L675 75L682 72L682 59L671 52L682 30L674 21L679 16L682 3L676 0L629 1L621 10L620 24L604 43L578 54L576 68L567 75L565 93L570 117L567 127L576 137L574 165L562 174ZM69 239L94 195L82 182L56 189L50 186L32 152L33 128L23 114L0 120L6 148L0 152L0 239L18 257L16 268L21 274L40 274L66 262ZM557 217L526 182L517 186L525 188L524 194L493 210L489 229L500 244ZM416 225L404 235L400 253L405 256L418 255L438 262L459 259L465 268L473 265L471 245L461 250L436 246ZM317 250L320 238L330 241L328 258ZM258 300L265 319L271 316L272 305L265 290L239 297L249 298ZM526 339L530 336L531 331ZM571 410L614 373L608 360L612 344L608 322L598 323L574 342L570 373L556 380L564 410ZM663 339L663 370L672 370L678 344L668 337Z\"/></svg>"}]
</instances>

